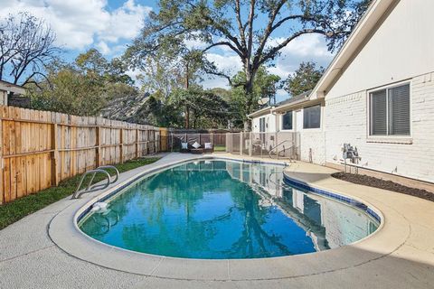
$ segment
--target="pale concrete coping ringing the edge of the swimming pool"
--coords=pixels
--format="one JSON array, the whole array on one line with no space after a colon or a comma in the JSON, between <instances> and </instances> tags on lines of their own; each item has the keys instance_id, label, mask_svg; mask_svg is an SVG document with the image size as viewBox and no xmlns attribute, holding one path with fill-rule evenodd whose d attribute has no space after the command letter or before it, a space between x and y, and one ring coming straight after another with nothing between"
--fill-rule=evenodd
<instances>
[{"instance_id":1,"label":"pale concrete coping ringing the edge of the swimming pool","mask_svg":"<svg viewBox=\"0 0 434 289\"><path fill-rule=\"evenodd\" d=\"M361 266L382 256L392 254L393 251L401 247L410 234L409 226L400 229L394 228L398 223L401 225L402 222L406 222L400 214L396 214L392 210L388 211L388 215L385 216L388 220L399 219L399 221L385 222L386 219L381 208L356 196L349 197L373 208L382 217L380 227L372 235L348 246L295 256L221 260L155 256L109 246L90 238L78 228L77 219L84 210L87 210L94 202L113 194L114 191L122 190L127 183L136 182L145 174L160 171L178 163L206 159L269 163L263 160L246 159L237 156L219 156L218 154L189 156L175 161L169 160L163 162L163 164L145 169L123 182L119 182L107 191L95 192L92 196L88 195L83 199L74 201L52 219L48 228L49 236L58 247L71 256L122 272L169 279L244 281L318 275ZM284 164L282 162L271 163ZM285 172L285 176L286 178L289 177L289 173ZM294 177L292 179L297 180ZM304 182L303 180L299 181ZM305 183L309 184L309 182ZM309 185L317 187L313 184ZM319 189L328 191L326 188ZM347 196L348 194L339 192L339 195ZM393 233L392 238L391 234L388 234L389 231ZM397 231L399 231L398 234ZM387 244L387 246L384 246L384 244Z\"/></svg>"}]
</instances>

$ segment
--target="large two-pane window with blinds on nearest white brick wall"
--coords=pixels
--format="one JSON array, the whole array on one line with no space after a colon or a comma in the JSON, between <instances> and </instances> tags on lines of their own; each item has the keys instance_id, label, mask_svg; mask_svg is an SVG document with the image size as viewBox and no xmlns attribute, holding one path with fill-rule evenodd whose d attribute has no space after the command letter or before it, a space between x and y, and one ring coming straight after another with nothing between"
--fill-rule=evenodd
<instances>
[{"instance_id":1,"label":"large two-pane window with blinds on nearest white brick wall","mask_svg":"<svg viewBox=\"0 0 434 289\"><path fill-rule=\"evenodd\" d=\"M370 94L370 135L410 135L410 84Z\"/></svg>"}]
</instances>

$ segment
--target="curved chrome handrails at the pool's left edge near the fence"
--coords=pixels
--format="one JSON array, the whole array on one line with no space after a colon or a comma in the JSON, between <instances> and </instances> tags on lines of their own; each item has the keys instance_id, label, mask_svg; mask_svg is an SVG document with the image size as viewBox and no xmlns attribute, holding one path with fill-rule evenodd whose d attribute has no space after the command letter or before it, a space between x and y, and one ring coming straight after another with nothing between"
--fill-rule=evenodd
<instances>
[{"instance_id":1,"label":"curved chrome handrails at the pool's left edge near the fence","mask_svg":"<svg viewBox=\"0 0 434 289\"><path fill-rule=\"evenodd\" d=\"M109 170L109 169L115 170L116 175L114 175L113 177L110 176L109 172L107 172L107 170ZM107 180L107 182L105 182L103 184L96 184L96 185L92 186L92 182L95 179L95 175L97 173L102 173L105 176L105 179ZM80 190L81 185L83 184L84 179L86 178L87 175L91 175L90 182L88 183L88 186L85 189ZM98 168L96 168L94 170L84 172L81 175L80 183L77 186L77 189L72 194L71 199L80 199L80 196L85 192L104 190L107 187L109 187L110 184L117 182L118 179L119 179L119 171L113 165L102 165L102 166L99 166Z\"/></svg>"}]
</instances>

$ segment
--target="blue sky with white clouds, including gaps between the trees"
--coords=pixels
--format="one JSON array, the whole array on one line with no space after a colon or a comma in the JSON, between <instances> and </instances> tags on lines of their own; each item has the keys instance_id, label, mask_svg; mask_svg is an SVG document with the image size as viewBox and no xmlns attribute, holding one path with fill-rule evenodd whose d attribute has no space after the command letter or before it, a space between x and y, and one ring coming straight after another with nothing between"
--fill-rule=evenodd
<instances>
[{"instance_id":1,"label":"blue sky with white clouds, including gaps between the trees","mask_svg":"<svg viewBox=\"0 0 434 289\"><path fill-rule=\"evenodd\" d=\"M122 55L127 44L140 32L146 15L157 11L157 0L0 0L0 19L7 14L29 12L43 18L57 35L61 55L73 61L78 54L90 48L98 49L106 58ZM274 35L275 40L285 36L285 31ZM190 42L192 46L201 43ZM241 61L229 50L216 49L208 58L223 70L235 73L241 70ZM270 73L287 79L301 61L315 61L326 67L333 54L327 51L323 36L311 34L297 38L282 50ZM129 71L131 76L138 71ZM204 88L227 87L226 79L205 78ZM278 91L278 100L288 98Z\"/></svg>"}]
</instances>

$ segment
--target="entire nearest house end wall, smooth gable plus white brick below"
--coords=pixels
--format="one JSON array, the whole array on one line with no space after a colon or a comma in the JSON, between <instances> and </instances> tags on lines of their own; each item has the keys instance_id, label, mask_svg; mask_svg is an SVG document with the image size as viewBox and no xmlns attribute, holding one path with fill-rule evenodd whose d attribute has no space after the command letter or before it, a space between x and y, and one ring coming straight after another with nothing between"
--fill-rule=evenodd
<instances>
[{"instance_id":1,"label":"entire nearest house end wall, smooth gable plus white brick below","mask_svg":"<svg viewBox=\"0 0 434 289\"><path fill-rule=\"evenodd\" d=\"M325 94L325 162L342 163L355 145L363 167L434 182L434 1L399 1ZM375 142L368 131L369 90L410 82L410 137Z\"/></svg>"}]
</instances>

